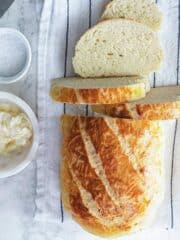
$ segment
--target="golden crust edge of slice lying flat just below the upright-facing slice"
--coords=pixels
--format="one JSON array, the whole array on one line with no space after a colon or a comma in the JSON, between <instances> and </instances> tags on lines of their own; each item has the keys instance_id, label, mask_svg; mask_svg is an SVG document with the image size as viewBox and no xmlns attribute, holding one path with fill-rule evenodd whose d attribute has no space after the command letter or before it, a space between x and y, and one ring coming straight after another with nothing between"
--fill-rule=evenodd
<instances>
[{"instance_id":1,"label":"golden crust edge of slice lying flat just below the upright-facing slice","mask_svg":"<svg viewBox=\"0 0 180 240\"><path fill-rule=\"evenodd\" d=\"M60 85L59 82L52 84L50 95L53 100L73 104L115 104L135 101L146 96L150 90L148 81L139 80L133 84L108 88L72 88ZM72 80L76 81L75 79ZM143 82L144 81L144 82Z\"/></svg>"}]
</instances>

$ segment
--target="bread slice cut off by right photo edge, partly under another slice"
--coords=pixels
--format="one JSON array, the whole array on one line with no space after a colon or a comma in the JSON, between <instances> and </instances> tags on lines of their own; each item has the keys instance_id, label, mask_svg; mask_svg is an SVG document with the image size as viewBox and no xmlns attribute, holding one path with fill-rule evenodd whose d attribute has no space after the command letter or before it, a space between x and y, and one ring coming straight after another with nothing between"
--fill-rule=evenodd
<instances>
[{"instance_id":1,"label":"bread slice cut off by right photo edge, partly under another slice","mask_svg":"<svg viewBox=\"0 0 180 240\"><path fill-rule=\"evenodd\" d=\"M180 119L180 86L152 89L146 98L137 102L97 105L92 109L112 117L148 120Z\"/></svg>"}]
</instances>

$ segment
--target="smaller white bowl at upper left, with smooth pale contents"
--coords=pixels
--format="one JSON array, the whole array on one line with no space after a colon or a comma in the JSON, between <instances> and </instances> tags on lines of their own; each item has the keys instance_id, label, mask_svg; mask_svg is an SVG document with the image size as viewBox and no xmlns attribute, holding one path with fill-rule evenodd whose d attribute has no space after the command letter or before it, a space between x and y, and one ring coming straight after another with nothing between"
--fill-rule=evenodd
<instances>
[{"instance_id":1,"label":"smaller white bowl at upper left, with smooth pale contents","mask_svg":"<svg viewBox=\"0 0 180 240\"><path fill-rule=\"evenodd\" d=\"M0 28L0 48L0 84L24 80L32 60L27 38L16 29Z\"/></svg>"}]
</instances>

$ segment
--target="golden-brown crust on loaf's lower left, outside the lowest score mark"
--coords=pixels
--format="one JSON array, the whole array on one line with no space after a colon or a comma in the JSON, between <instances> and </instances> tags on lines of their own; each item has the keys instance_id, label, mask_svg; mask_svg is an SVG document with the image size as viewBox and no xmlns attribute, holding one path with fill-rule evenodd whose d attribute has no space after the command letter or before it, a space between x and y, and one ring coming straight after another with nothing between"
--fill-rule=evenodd
<instances>
[{"instance_id":1,"label":"golden-brown crust on loaf's lower left, outside the lowest score mark","mask_svg":"<svg viewBox=\"0 0 180 240\"><path fill-rule=\"evenodd\" d=\"M61 171L61 179L63 181L61 191L63 206L66 211L68 211L74 220L76 220L88 232L102 237L119 235L118 227L112 226L107 228L89 213L88 209L82 202L81 195L76 184L72 180L68 167L66 166L66 162L63 161L63 164L64 167ZM124 226L124 233L125 230Z\"/></svg>"}]
</instances>

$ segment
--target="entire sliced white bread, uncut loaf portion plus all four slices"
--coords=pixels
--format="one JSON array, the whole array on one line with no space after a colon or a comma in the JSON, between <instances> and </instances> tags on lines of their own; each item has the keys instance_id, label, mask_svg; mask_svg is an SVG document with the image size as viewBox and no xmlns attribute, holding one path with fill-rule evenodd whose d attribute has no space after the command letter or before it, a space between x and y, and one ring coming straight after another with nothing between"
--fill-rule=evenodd
<instances>
[{"instance_id":1,"label":"entire sliced white bread, uncut loaf portion plus all four slices","mask_svg":"<svg viewBox=\"0 0 180 240\"><path fill-rule=\"evenodd\" d=\"M62 117L64 207L86 230L126 234L152 221L163 196L163 131L180 118L180 88L150 88L163 50L151 0L113 0L75 49L80 77L57 79L55 101L93 105L109 117Z\"/></svg>"}]
</instances>

